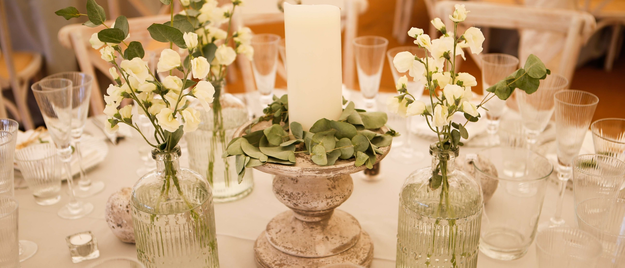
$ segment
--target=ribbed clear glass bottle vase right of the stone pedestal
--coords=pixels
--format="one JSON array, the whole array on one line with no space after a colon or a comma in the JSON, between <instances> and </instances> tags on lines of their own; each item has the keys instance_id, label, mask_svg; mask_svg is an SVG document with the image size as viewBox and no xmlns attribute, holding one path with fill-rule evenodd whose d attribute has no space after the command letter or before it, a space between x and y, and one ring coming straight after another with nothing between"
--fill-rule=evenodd
<instances>
[{"instance_id":1,"label":"ribbed clear glass bottle vase right of the stone pedestal","mask_svg":"<svg viewBox=\"0 0 625 268\"><path fill-rule=\"evenodd\" d=\"M482 191L456 169L458 149L430 146L431 167L412 172L399 194L397 268L477 266Z\"/></svg>"}]
</instances>

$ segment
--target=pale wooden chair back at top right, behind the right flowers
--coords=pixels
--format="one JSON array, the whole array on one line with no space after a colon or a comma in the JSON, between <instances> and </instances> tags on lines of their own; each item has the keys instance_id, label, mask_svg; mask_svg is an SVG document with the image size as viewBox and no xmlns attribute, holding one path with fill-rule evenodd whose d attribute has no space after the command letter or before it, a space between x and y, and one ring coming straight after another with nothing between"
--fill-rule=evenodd
<instances>
[{"instance_id":1,"label":"pale wooden chair back at top right, behind the right flowers","mask_svg":"<svg viewBox=\"0 0 625 268\"><path fill-rule=\"evenodd\" d=\"M584 11L444 0L436 3L436 14L445 22L448 29L452 27L449 14L454 11L455 4L464 4L466 9L471 11L466 21L462 22L466 26L534 29L564 34L566 41L558 67L559 73L569 81L575 71L581 46L596 27L594 17Z\"/></svg>"}]
</instances>

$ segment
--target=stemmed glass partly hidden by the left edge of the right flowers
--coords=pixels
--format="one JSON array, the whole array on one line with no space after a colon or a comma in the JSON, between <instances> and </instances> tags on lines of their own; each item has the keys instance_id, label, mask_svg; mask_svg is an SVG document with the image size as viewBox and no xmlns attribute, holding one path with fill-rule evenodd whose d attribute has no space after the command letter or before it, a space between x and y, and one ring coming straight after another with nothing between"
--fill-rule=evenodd
<instances>
[{"instance_id":1,"label":"stemmed glass partly hidden by the left edge of the right flowers","mask_svg":"<svg viewBox=\"0 0 625 268\"><path fill-rule=\"evenodd\" d=\"M392 49L389 49L386 52L386 58L388 59L389 67L391 67L393 84L397 83L397 80L399 79L399 77L402 77L402 76L410 77L408 76L407 71L398 72L397 68L392 63L392 60L395 58L397 53L403 52L403 51L411 52L413 55L420 57L420 58L423 58L426 56L426 52L422 48L419 48L417 46L399 46L399 47L393 47ZM412 94L412 96L422 99L422 101L426 103L430 102L429 99L427 100L423 99L425 86L422 85L421 82L414 81L414 79L409 78L408 83L406 84L406 89L410 94ZM428 95L429 95L429 92L428 92ZM413 141L414 134L411 132L412 121L422 120L422 117L409 116L407 118L403 118L392 112L389 112L387 114L389 116L389 122L401 121L403 125L403 126L398 126L397 128L395 128L396 131L399 131L400 133L403 133L403 134L399 137L393 138L394 146L397 146L399 149L397 150L397 154L391 154L391 157L404 164L412 164L422 159L424 157L423 152L416 151L414 148L412 148L412 144L414 143ZM396 139L397 141L395 141Z\"/></svg>"}]
</instances>

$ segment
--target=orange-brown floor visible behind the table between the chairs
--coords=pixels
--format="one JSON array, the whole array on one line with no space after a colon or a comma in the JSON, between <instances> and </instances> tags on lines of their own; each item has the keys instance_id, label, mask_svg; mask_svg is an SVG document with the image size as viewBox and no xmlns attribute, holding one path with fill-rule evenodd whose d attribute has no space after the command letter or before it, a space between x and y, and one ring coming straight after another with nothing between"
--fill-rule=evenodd
<instances>
[{"instance_id":1,"label":"orange-brown floor visible behind the table between the chairs","mask_svg":"<svg viewBox=\"0 0 625 268\"><path fill-rule=\"evenodd\" d=\"M369 0L369 9L359 17L358 36L373 35L386 37L389 40L389 49L402 46L392 37L394 10L394 0ZM427 29L430 19L427 17L422 0L417 0L414 4L413 14L411 26ZM252 27L252 31L255 33L271 32L284 37L284 24L256 26ZM409 46L410 43L405 45ZM602 63L603 60L601 58L577 69L571 82L571 89L592 92L599 97L599 106L597 106L594 119L606 117L625 118L625 51L621 52L619 59L616 59L616 62L614 62L612 72L604 71ZM474 91L481 91L481 73L470 57L467 57L467 61L462 64L461 71L469 72L475 76L478 86L474 87ZM286 88L286 82L278 78L276 87ZM230 89L234 92L243 91L242 82L231 84ZM394 89L391 69L388 62L385 61L380 90L394 91Z\"/></svg>"}]
</instances>

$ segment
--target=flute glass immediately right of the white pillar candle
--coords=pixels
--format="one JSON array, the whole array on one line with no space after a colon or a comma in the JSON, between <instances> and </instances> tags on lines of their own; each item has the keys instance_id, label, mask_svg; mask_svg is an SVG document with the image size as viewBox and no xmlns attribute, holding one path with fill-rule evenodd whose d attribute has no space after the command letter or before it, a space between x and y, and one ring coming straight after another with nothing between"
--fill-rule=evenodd
<instances>
[{"instance_id":1,"label":"flute glass immediately right of the white pillar candle","mask_svg":"<svg viewBox=\"0 0 625 268\"><path fill-rule=\"evenodd\" d=\"M352 41L358 84L364 97L364 105L372 109L376 104L377 92L380 90L384 53L389 41L381 36L361 36Z\"/></svg>"}]
</instances>

